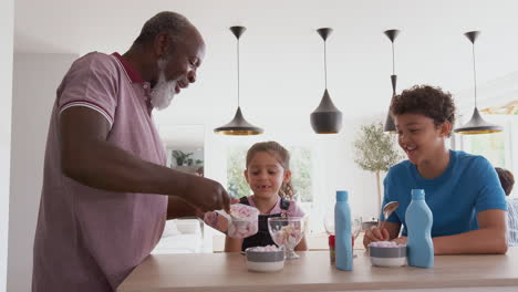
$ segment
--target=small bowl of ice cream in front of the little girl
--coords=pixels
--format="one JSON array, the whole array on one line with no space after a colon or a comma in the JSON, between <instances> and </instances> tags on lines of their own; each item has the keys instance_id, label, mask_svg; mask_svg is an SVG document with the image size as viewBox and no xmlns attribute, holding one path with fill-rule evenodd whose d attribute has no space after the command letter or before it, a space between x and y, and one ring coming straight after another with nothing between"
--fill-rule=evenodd
<instances>
[{"instance_id":1,"label":"small bowl of ice cream in front of the little girl","mask_svg":"<svg viewBox=\"0 0 518 292\"><path fill-rule=\"evenodd\" d=\"M284 268L284 250L276 246L248 248L245 253L249 271L276 272Z\"/></svg>"}]
</instances>

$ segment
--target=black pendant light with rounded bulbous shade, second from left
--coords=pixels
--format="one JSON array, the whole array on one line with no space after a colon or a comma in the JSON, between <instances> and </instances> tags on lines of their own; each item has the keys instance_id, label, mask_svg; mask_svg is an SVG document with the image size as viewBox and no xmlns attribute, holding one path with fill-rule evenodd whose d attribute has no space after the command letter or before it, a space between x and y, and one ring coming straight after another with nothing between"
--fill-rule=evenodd
<instances>
[{"instance_id":1,"label":"black pendant light with rounded bulbous shade, second from left","mask_svg":"<svg viewBox=\"0 0 518 292\"><path fill-rule=\"evenodd\" d=\"M317 134L336 134L342 128L342 112L334 106L328 92L328 60L325 41L333 30L330 28L318 29L317 32L324 43L324 83L325 91L320 105L311 113L311 127Z\"/></svg>"}]
</instances>

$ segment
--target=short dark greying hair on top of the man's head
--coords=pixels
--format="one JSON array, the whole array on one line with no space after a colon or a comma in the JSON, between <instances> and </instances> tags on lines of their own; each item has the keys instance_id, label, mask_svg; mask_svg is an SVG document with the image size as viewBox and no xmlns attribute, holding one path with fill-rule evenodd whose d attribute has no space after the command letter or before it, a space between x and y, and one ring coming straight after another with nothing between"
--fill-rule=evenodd
<instances>
[{"instance_id":1,"label":"short dark greying hair on top of the man's head","mask_svg":"<svg viewBox=\"0 0 518 292\"><path fill-rule=\"evenodd\" d=\"M145 44L153 42L160 33L168 33L173 43L177 43L180 35L185 33L186 28L193 24L186 17L170 11L163 11L151 18L142 28L141 34L135 40L135 44Z\"/></svg>"}]
</instances>

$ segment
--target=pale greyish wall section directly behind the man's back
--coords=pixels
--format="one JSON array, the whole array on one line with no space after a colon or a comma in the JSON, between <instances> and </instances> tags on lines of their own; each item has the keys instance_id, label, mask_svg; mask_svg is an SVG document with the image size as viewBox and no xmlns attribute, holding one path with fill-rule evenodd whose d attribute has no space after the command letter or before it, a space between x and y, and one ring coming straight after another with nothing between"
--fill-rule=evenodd
<instances>
[{"instance_id":1,"label":"pale greyish wall section directly behind the man's back","mask_svg":"<svg viewBox=\"0 0 518 292\"><path fill-rule=\"evenodd\" d=\"M55 90L76 55L14 54L8 291L30 291L43 157Z\"/></svg>"}]
</instances>

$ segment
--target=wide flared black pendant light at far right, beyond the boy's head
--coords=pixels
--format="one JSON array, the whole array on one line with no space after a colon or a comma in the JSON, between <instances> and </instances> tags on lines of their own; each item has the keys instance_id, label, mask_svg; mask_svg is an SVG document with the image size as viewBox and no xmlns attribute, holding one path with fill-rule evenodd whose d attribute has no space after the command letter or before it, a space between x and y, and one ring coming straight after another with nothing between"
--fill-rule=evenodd
<instances>
[{"instance_id":1,"label":"wide flared black pendant light at far right, beyond the boy's head","mask_svg":"<svg viewBox=\"0 0 518 292\"><path fill-rule=\"evenodd\" d=\"M501 132L503 128L498 125L489 124L480 116L477 108L477 71L475 67L475 41L480 34L479 31L469 31L466 32L464 35L468 38L472 42L472 52L473 52L473 81L474 81L474 88L475 88L475 109L473 111L473 116L469 122L465 125L454 129L457 134L465 134L465 135L475 135L475 134L489 134L489 133L498 133Z\"/></svg>"}]
</instances>

